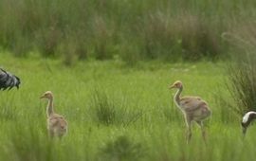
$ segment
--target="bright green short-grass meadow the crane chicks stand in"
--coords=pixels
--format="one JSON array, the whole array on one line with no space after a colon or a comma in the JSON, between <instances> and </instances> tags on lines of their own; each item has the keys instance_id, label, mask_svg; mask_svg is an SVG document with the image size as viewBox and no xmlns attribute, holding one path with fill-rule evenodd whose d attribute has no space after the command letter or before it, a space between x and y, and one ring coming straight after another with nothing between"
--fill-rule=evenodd
<instances>
[{"instance_id":1,"label":"bright green short-grass meadow the crane chicks stand in","mask_svg":"<svg viewBox=\"0 0 256 161\"><path fill-rule=\"evenodd\" d=\"M256 127L242 138L240 117L218 98L225 88L226 63L82 62L13 58L0 54L2 67L22 80L19 90L0 93L0 160L254 160ZM206 99L207 145L199 128L185 140L185 123L168 85L182 80L184 93ZM63 140L46 133L46 100L69 123Z\"/></svg>"}]
</instances>

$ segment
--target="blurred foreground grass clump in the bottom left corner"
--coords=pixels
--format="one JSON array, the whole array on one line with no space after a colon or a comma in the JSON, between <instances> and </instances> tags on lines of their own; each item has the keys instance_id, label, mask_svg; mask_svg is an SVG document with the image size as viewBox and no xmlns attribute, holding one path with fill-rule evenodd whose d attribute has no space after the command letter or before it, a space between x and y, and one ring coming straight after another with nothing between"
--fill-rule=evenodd
<instances>
[{"instance_id":1,"label":"blurred foreground grass clump in the bottom left corner","mask_svg":"<svg viewBox=\"0 0 256 161\"><path fill-rule=\"evenodd\" d=\"M13 122L12 125L9 125L6 134L8 134L8 141L5 141L5 147L1 147L0 151L3 152L2 158L7 160L51 161L84 158L75 150L75 147L48 137L46 127L37 120L27 122L27 126L20 122ZM72 155L69 155L69 152Z\"/></svg>"}]
</instances>

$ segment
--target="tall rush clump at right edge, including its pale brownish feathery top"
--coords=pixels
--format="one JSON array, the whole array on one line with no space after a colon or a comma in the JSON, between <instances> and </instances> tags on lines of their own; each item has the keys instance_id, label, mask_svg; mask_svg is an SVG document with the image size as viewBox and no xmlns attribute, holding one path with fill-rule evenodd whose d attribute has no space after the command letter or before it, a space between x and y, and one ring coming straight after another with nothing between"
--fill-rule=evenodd
<instances>
[{"instance_id":1,"label":"tall rush clump at right edge, including its pale brownish feathery top","mask_svg":"<svg viewBox=\"0 0 256 161\"><path fill-rule=\"evenodd\" d=\"M238 115L256 110L256 39L254 22L246 23L227 33L232 44L233 62L227 67L228 89L233 98L230 107Z\"/></svg>"}]
</instances>

